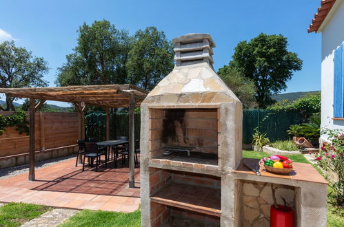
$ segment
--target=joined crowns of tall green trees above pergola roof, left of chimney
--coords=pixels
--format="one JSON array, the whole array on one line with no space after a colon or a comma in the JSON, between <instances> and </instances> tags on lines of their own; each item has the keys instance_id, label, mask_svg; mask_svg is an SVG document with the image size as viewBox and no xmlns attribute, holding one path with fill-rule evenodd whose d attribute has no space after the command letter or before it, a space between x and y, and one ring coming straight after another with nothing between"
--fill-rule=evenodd
<instances>
[{"instance_id":1,"label":"joined crowns of tall green trees above pergola roof, left of chimney","mask_svg":"<svg viewBox=\"0 0 344 227\"><path fill-rule=\"evenodd\" d=\"M173 67L172 45L154 27L130 36L103 20L83 23L77 32L77 46L58 69L59 86L133 83L150 89Z\"/></svg>"}]
</instances>

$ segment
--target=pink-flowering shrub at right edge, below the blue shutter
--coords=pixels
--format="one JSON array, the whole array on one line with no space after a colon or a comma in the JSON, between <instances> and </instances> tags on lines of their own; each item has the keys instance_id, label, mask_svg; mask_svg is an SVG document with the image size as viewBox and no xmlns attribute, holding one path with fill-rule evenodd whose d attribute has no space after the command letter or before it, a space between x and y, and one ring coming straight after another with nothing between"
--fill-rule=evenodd
<instances>
[{"instance_id":1,"label":"pink-flowering shrub at right edge, below the blue shutter","mask_svg":"<svg viewBox=\"0 0 344 227\"><path fill-rule=\"evenodd\" d=\"M324 129L330 142L324 142L315 155L318 166L325 171L325 178L333 188L334 198L339 206L344 202L344 132Z\"/></svg>"}]
</instances>

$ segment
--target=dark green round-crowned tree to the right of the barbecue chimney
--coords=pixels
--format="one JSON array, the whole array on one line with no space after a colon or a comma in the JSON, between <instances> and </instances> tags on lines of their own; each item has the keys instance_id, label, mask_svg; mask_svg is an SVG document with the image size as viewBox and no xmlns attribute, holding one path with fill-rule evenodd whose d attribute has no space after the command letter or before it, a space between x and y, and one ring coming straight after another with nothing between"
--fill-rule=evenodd
<instances>
[{"instance_id":1,"label":"dark green round-crowned tree to the right of the barbecue chimney","mask_svg":"<svg viewBox=\"0 0 344 227\"><path fill-rule=\"evenodd\" d=\"M250 42L242 41L235 47L230 67L234 67L254 80L256 101L260 108L274 103L272 94L287 88L287 80L294 71L302 68L302 60L287 50L283 35L259 34Z\"/></svg>"}]
</instances>

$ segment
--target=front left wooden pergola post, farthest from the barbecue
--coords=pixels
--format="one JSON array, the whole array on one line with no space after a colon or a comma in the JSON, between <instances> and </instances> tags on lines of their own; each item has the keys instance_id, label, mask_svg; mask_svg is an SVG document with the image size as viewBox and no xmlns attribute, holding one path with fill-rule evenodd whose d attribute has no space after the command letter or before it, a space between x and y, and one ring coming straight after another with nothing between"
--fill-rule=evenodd
<instances>
[{"instance_id":1,"label":"front left wooden pergola post, farthest from the barbecue","mask_svg":"<svg viewBox=\"0 0 344 227\"><path fill-rule=\"evenodd\" d=\"M29 181L34 181L34 113L36 102L30 98Z\"/></svg>"}]
</instances>

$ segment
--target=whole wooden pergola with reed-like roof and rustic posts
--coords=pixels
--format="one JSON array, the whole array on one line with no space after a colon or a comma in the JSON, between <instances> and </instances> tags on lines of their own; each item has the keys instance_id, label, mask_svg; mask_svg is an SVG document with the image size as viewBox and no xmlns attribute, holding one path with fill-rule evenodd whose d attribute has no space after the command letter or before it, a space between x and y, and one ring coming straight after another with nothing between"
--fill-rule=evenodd
<instances>
[{"instance_id":1,"label":"whole wooden pergola with reed-like roof and rustic posts","mask_svg":"<svg viewBox=\"0 0 344 227\"><path fill-rule=\"evenodd\" d=\"M30 98L29 180L34 181L34 113L45 102L71 102L79 112L79 138L85 139L85 107L104 107L106 140L110 140L110 108L129 107L129 186L134 187L134 108L139 107L148 91L135 85L90 85L68 87L0 88L0 93L18 98ZM36 104L36 100L39 100Z\"/></svg>"}]
</instances>

